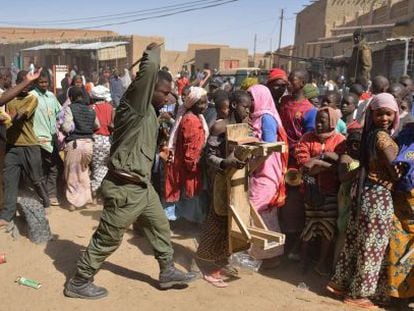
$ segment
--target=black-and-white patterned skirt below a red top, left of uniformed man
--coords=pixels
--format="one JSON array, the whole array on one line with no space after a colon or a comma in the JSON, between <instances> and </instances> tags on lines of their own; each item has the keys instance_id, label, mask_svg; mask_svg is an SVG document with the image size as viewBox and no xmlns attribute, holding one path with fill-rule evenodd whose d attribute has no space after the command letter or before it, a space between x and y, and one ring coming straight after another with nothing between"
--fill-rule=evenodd
<instances>
[{"instance_id":1,"label":"black-and-white patterned skirt below a red top, left of uniformed man","mask_svg":"<svg viewBox=\"0 0 414 311\"><path fill-rule=\"evenodd\" d=\"M93 155L92 155L92 191L96 192L102 180L108 173L108 160L111 151L111 140L109 136L93 135Z\"/></svg>"}]
</instances>

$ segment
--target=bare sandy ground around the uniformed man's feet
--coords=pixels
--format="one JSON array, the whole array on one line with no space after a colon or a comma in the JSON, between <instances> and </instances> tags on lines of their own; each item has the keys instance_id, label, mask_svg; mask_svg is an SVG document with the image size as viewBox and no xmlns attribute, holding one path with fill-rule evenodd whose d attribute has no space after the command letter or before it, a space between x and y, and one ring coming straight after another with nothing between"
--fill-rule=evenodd
<instances>
[{"instance_id":1,"label":"bare sandy ground around the uniformed man's feet","mask_svg":"<svg viewBox=\"0 0 414 311\"><path fill-rule=\"evenodd\" d=\"M98 285L109 290L107 298L87 301L63 296L63 285L74 271L79 253L98 225L100 207L69 212L53 208L48 216L54 240L32 244L22 236L13 240L0 233L0 310L351 310L326 296L326 280L310 272L302 276L293 263L268 274L240 271L226 289L197 280L186 289L157 288L158 265L144 237L128 231L121 247L96 275ZM189 269L195 250L191 230L174 230L177 265ZM39 290L19 286L16 277L42 283ZM305 282L310 289L300 290Z\"/></svg>"}]
</instances>

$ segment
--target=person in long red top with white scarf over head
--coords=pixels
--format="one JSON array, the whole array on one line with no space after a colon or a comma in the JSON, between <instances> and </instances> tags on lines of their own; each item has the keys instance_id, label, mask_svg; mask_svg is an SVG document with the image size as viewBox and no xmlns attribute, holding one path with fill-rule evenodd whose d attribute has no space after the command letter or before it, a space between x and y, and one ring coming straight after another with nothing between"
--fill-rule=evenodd
<instances>
[{"instance_id":1,"label":"person in long red top with white scarf over head","mask_svg":"<svg viewBox=\"0 0 414 311\"><path fill-rule=\"evenodd\" d=\"M201 155L209 132L203 112L207 92L191 87L185 103L178 108L168 147L170 163L166 167L165 200L176 204L178 217L201 223L205 213L198 195L203 190Z\"/></svg>"}]
</instances>

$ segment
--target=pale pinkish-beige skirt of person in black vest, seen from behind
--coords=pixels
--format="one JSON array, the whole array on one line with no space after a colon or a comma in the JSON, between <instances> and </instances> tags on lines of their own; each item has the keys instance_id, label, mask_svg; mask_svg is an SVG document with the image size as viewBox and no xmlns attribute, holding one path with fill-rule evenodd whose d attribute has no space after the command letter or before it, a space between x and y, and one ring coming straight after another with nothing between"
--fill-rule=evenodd
<instances>
[{"instance_id":1,"label":"pale pinkish-beige skirt of person in black vest, seen from behind","mask_svg":"<svg viewBox=\"0 0 414 311\"><path fill-rule=\"evenodd\" d=\"M66 199L75 207L92 202L89 178L92 151L92 139L77 139L65 147Z\"/></svg>"}]
</instances>

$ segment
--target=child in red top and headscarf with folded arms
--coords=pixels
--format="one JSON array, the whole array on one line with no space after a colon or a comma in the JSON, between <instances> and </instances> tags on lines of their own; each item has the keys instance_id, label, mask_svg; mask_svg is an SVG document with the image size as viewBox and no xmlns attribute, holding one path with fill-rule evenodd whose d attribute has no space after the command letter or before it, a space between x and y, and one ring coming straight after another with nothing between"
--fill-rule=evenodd
<instances>
[{"instance_id":1,"label":"child in red top and headscarf with folded arms","mask_svg":"<svg viewBox=\"0 0 414 311\"><path fill-rule=\"evenodd\" d=\"M316 115L315 131L305 134L296 148L296 159L304 175L305 188L302 267L307 268L311 240L320 238L321 248L315 267L320 275L330 273L327 258L334 242L338 216L339 180L336 164L345 152L345 137L335 131L338 119L338 113L333 108L321 108Z\"/></svg>"}]
</instances>

